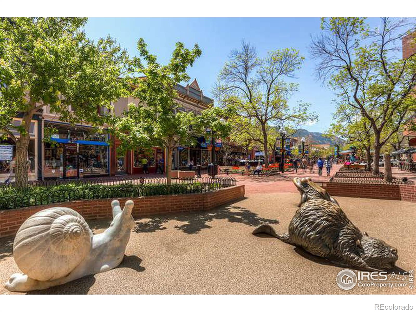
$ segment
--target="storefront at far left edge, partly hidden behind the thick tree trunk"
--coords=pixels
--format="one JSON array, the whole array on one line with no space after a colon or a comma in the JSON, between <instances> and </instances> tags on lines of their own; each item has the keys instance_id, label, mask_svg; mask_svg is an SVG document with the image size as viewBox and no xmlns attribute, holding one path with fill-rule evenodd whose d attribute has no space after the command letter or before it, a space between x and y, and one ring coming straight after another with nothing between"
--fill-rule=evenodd
<instances>
[{"instance_id":1,"label":"storefront at far left edge, partly hidden behind the thick tree trunk","mask_svg":"<svg viewBox=\"0 0 416 312\"><path fill-rule=\"evenodd\" d=\"M37 118L37 116L35 116ZM14 118L14 126L20 126L22 119ZM12 134L19 138L19 133L13 129L10 129ZM38 178L38 135L39 127L38 120L32 120L30 124L29 134L30 141L27 148L27 157L30 162L28 166L29 180L37 180ZM15 181L16 173L16 143L9 136L4 140L0 140L0 183Z\"/></svg>"}]
</instances>

